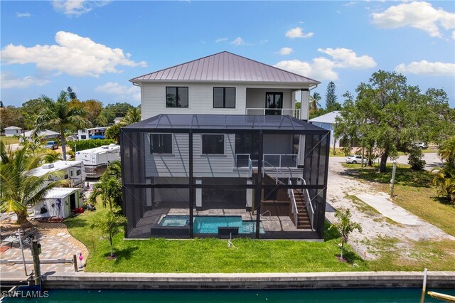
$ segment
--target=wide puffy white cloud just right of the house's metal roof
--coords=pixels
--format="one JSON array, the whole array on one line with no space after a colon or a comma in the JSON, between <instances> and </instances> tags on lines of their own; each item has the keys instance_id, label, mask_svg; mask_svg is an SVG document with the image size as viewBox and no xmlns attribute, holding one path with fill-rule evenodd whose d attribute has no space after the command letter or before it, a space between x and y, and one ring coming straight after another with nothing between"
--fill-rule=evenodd
<instances>
[{"instance_id":1,"label":"wide puffy white cloud just right of the house's metal roof","mask_svg":"<svg viewBox=\"0 0 455 303\"><path fill-rule=\"evenodd\" d=\"M318 50L331 56L331 59L318 57L314 58L311 63L301 60L283 60L274 66L320 81L338 80L336 68L365 69L376 66L375 60L370 56L358 57L353 50L348 48L319 48Z\"/></svg>"}]
</instances>

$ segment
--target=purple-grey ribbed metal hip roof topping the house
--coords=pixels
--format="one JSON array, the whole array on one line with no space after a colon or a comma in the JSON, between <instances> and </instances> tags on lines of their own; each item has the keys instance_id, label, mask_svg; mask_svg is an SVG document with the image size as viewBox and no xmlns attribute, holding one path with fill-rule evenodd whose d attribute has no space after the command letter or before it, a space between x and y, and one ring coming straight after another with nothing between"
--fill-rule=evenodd
<instances>
[{"instance_id":1,"label":"purple-grey ribbed metal hip roof topping the house","mask_svg":"<svg viewBox=\"0 0 455 303\"><path fill-rule=\"evenodd\" d=\"M319 81L227 51L133 78L149 81L232 81L316 85Z\"/></svg>"}]
</instances>

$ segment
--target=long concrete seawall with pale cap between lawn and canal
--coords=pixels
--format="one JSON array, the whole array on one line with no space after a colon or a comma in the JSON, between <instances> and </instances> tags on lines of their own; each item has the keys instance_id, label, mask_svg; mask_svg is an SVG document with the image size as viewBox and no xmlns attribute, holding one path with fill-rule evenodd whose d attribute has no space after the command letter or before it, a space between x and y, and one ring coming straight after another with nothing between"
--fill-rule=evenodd
<instances>
[{"instance_id":1,"label":"long concrete seawall with pale cap between lawn and canal","mask_svg":"<svg viewBox=\"0 0 455 303\"><path fill-rule=\"evenodd\" d=\"M324 289L422 287L423 272L112 273L54 272L51 289ZM428 272L427 287L454 288L455 272Z\"/></svg>"}]
</instances>

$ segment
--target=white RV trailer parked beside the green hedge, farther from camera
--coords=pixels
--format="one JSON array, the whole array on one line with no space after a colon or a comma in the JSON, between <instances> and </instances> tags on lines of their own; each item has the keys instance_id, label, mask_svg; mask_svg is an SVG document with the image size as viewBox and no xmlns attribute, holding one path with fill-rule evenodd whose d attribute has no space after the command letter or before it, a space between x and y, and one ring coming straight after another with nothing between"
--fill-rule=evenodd
<instances>
[{"instance_id":1,"label":"white RV trailer parked beside the green hedge, farther from camera","mask_svg":"<svg viewBox=\"0 0 455 303\"><path fill-rule=\"evenodd\" d=\"M77 151L76 160L84 162L87 178L100 178L109 163L120 160L120 147L109 144L95 149Z\"/></svg>"}]
</instances>

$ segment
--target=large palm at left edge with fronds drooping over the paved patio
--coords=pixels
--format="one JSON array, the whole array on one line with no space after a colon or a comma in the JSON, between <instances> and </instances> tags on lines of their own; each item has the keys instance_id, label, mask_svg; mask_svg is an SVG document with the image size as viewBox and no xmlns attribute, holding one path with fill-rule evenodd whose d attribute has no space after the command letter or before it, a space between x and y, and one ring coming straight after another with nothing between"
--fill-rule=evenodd
<instances>
[{"instance_id":1,"label":"large palm at left edge with fronds drooping over the paved patio","mask_svg":"<svg viewBox=\"0 0 455 303\"><path fill-rule=\"evenodd\" d=\"M43 163L45 153L28 153L27 143L12 152L0 142L0 157L0 210L16 213L18 223L27 221L27 206L41 202L51 188L68 183L60 180L46 185L49 176L58 175L56 173L31 175L29 171Z\"/></svg>"}]
</instances>

